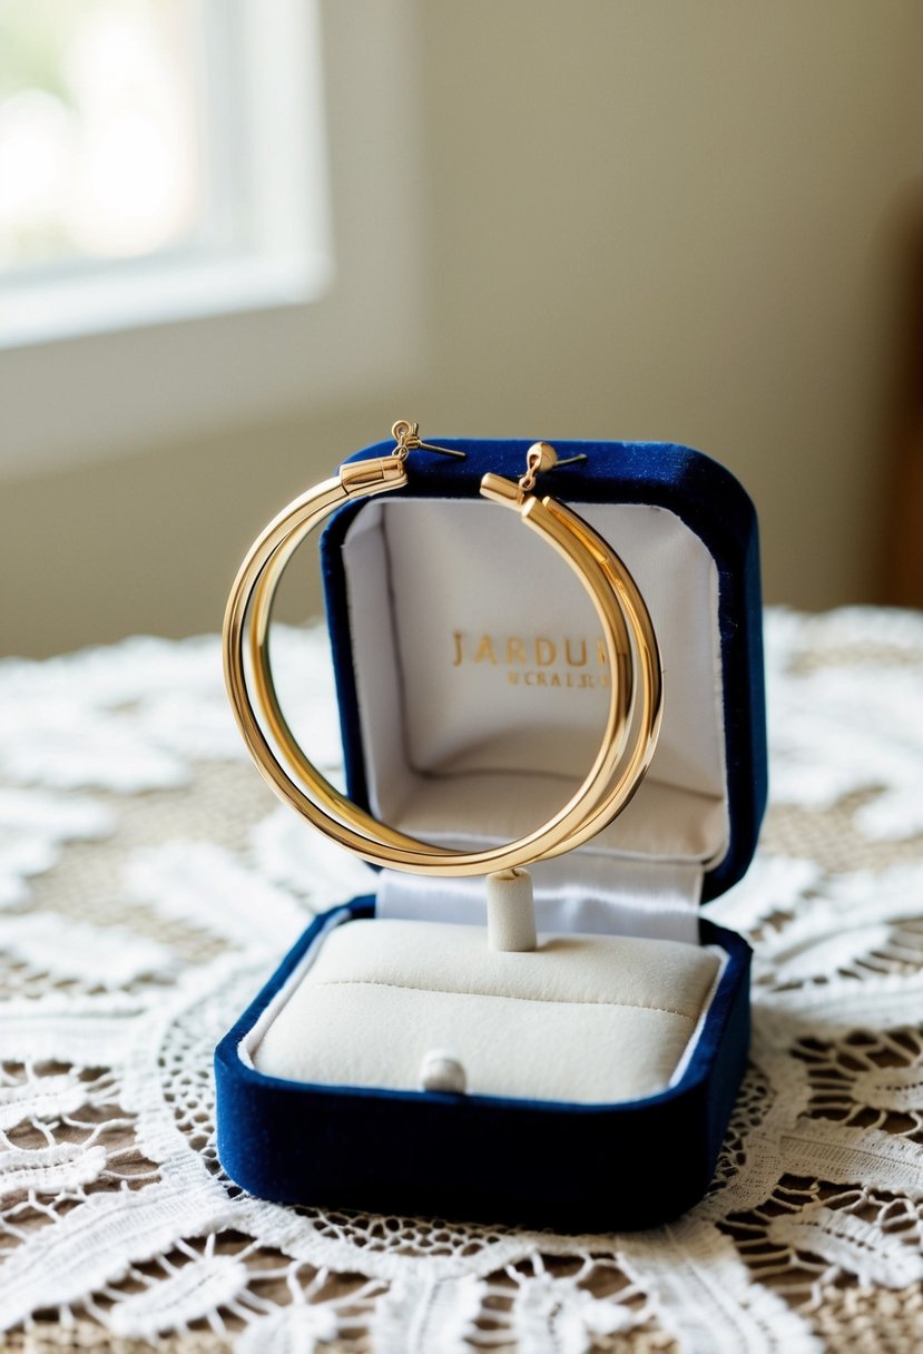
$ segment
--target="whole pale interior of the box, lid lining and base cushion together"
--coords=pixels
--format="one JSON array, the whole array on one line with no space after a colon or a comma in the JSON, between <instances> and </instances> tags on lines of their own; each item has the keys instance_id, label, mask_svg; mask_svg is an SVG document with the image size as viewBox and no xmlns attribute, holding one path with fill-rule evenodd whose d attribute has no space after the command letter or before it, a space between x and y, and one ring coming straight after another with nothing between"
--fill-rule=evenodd
<instances>
[{"instance_id":1,"label":"whole pale interior of the box, lid lining and base cushion together","mask_svg":"<svg viewBox=\"0 0 923 1354\"><path fill-rule=\"evenodd\" d=\"M647 780L594 841L532 867L535 909L528 877L486 898L483 879L383 871L376 918L332 926L253 1029L242 1052L258 1071L574 1104L682 1074L723 961L697 919L728 841L716 566L665 509L577 506L623 555L662 646ZM579 584L468 501L368 504L342 565L372 811L457 848L541 822L605 714Z\"/></svg>"}]
</instances>

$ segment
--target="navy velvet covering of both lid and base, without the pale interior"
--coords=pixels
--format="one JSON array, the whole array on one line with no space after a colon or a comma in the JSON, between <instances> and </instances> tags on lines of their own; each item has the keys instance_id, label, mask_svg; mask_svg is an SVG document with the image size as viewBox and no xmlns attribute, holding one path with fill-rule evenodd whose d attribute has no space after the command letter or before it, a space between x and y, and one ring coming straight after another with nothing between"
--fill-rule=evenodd
<instances>
[{"instance_id":1,"label":"navy velvet covering of both lid and base, without the pale interior","mask_svg":"<svg viewBox=\"0 0 923 1354\"><path fill-rule=\"evenodd\" d=\"M413 452L420 498L476 498L487 470L516 478L529 443L453 441L453 460ZM352 459L383 456L380 443ZM713 898L746 872L766 802L762 612L757 520L721 466L673 444L568 443L556 470L566 502L640 502L674 512L705 542L719 573L729 849L705 875ZM351 796L368 807L341 544L361 504L344 508L322 540L328 621ZM375 899L336 909L372 917ZM689 1064L666 1091L618 1105L547 1104L502 1097L317 1086L267 1076L240 1056L241 1041L286 983L326 921L295 945L215 1053L218 1152L227 1174L264 1198L382 1213L422 1213L613 1231L677 1217L705 1193L743 1076L750 1041L750 949L701 922L705 944L728 964ZM349 925L348 921L344 925Z\"/></svg>"}]
</instances>

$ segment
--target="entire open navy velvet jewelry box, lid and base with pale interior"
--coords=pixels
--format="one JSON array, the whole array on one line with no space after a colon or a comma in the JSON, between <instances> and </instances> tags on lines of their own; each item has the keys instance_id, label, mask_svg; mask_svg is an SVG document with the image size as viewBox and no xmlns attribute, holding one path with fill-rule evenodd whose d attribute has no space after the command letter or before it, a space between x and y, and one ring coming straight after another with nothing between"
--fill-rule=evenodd
<instances>
[{"instance_id":1,"label":"entire open navy velvet jewelry box, lid and base with pale interior","mask_svg":"<svg viewBox=\"0 0 923 1354\"><path fill-rule=\"evenodd\" d=\"M486 471L521 474L528 441L443 444L466 459L413 452L406 489L333 520L322 562L351 798L471 848L570 798L608 672L579 585L478 496ZM382 871L375 896L317 918L215 1055L219 1156L261 1197L612 1231L677 1216L712 1178L750 951L697 909L746 872L765 807L755 515L696 451L555 447L586 460L543 490L612 542L651 609L654 762L610 827L532 867L535 956L480 959L479 879ZM467 1091L418 1090L447 1039Z\"/></svg>"}]
</instances>

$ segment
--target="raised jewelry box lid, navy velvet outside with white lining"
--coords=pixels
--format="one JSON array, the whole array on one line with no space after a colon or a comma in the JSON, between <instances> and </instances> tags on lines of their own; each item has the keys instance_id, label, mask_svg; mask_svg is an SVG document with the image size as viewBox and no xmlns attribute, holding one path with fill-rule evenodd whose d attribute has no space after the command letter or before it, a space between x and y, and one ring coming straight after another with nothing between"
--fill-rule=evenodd
<instances>
[{"instance_id":1,"label":"raised jewelry box lid, navy velvet outside with white lining","mask_svg":"<svg viewBox=\"0 0 923 1354\"><path fill-rule=\"evenodd\" d=\"M606 700L606 674L593 634L572 620L568 588L579 585L480 497L486 473L524 473L532 439L432 441L464 458L411 451L406 487L346 505L322 536L346 787L426 839L494 839L498 793L502 812L520 800L526 811L532 787L559 766L575 783L589 769L595 743L583 726ZM560 462L575 460L543 477L541 492L585 516L625 561L663 655L660 743L600 850L635 875L694 858L708 900L746 873L766 804L752 502L729 471L688 447L554 447ZM349 459L391 450L376 443ZM505 781L508 770L518 779ZM570 789L558 795L563 803ZM543 811L508 825L508 837Z\"/></svg>"}]
</instances>

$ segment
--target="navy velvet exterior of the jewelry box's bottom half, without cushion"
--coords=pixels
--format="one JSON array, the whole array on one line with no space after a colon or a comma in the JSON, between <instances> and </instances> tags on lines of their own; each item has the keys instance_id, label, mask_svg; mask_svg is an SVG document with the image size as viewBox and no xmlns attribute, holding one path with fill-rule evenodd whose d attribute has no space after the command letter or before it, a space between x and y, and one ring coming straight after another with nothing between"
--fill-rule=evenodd
<instances>
[{"instance_id":1,"label":"navy velvet exterior of the jewelry box's bottom half, without cushion","mask_svg":"<svg viewBox=\"0 0 923 1354\"><path fill-rule=\"evenodd\" d=\"M750 948L702 922L728 964L682 1079L628 1105L548 1105L436 1091L309 1086L265 1076L241 1040L334 913L310 926L218 1045L218 1155L283 1204L601 1232L654 1227L708 1189L747 1060ZM349 925L349 922L344 922Z\"/></svg>"}]
</instances>

